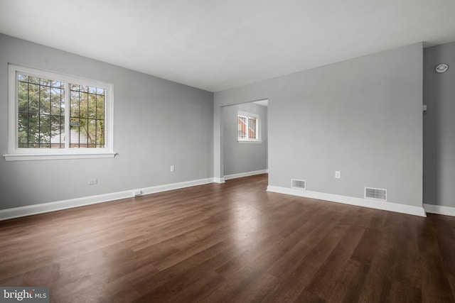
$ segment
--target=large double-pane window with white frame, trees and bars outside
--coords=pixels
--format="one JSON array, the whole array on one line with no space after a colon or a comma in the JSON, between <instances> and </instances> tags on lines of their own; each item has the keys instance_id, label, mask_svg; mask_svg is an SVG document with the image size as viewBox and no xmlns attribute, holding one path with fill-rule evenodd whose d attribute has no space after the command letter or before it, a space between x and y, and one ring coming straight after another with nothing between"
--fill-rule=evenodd
<instances>
[{"instance_id":1,"label":"large double-pane window with white frame, trees and bars outside","mask_svg":"<svg viewBox=\"0 0 455 303\"><path fill-rule=\"evenodd\" d=\"M6 160L114 157L112 85L9 65Z\"/></svg>"}]
</instances>

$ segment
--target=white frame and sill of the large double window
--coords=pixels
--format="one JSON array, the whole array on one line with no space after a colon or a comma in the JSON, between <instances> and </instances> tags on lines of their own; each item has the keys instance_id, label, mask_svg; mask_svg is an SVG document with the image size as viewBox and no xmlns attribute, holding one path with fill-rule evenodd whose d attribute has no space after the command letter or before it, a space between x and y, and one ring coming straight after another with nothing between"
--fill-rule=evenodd
<instances>
[{"instance_id":1,"label":"white frame and sill of the large double window","mask_svg":"<svg viewBox=\"0 0 455 303\"><path fill-rule=\"evenodd\" d=\"M65 146L67 148L18 148L18 73L53 79L65 83ZM69 148L70 86L69 83L105 89L105 148ZM114 158L113 145L113 86L106 82L85 79L58 72L38 70L19 65L8 65L8 154L6 161L57 160L80 158Z\"/></svg>"}]
</instances>

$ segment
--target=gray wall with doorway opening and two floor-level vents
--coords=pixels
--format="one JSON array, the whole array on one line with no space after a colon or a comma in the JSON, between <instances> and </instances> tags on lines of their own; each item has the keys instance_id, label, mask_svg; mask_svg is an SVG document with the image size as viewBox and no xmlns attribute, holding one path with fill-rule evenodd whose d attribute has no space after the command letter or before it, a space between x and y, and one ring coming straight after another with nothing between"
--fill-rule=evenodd
<instances>
[{"instance_id":1,"label":"gray wall with doorway opening and two floor-level vents","mask_svg":"<svg viewBox=\"0 0 455 303\"><path fill-rule=\"evenodd\" d=\"M269 99L270 185L422 206L422 66L417 43L215 93L215 177L219 106Z\"/></svg>"}]
</instances>

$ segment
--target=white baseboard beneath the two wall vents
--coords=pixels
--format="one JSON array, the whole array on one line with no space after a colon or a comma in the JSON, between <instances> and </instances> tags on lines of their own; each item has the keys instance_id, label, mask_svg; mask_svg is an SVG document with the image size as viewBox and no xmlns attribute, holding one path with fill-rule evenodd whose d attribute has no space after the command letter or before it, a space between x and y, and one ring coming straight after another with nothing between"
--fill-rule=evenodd
<instances>
[{"instance_id":1,"label":"white baseboard beneath the two wall vents","mask_svg":"<svg viewBox=\"0 0 455 303\"><path fill-rule=\"evenodd\" d=\"M309 190L293 189L287 187L277 187L269 185L267 192L278 192L280 194L291 194L293 196L306 197L311 199L326 200L343 204L369 207L371 209L381 209L385 211L395 211L403 214L412 214L414 216L427 216L425 209L419 206L410 206L390 202L380 202L370 199L341 196L339 194L326 194L323 192L311 192Z\"/></svg>"}]
</instances>

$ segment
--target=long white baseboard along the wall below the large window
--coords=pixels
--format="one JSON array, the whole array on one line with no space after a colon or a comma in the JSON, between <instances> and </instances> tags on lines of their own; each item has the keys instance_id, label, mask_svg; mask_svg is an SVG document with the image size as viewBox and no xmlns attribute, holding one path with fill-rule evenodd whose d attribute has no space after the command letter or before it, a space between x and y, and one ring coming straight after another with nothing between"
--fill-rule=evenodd
<instances>
[{"instance_id":1,"label":"long white baseboard along the wall below the large window","mask_svg":"<svg viewBox=\"0 0 455 303\"><path fill-rule=\"evenodd\" d=\"M130 197L134 197L133 190L141 190L142 194L154 194L156 192L166 192L166 191L172 190L172 189L191 187L191 186L213 183L213 182L214 182L214 178L207 178L207 179L192 180L192 181L186 181L186 182L178 182L178 183L173 183L173 184L164 184L164 185L158 185L158 186L153 186L153 187L136 188L136 189L126 190L123 192L113 192L110 194L99 194L96 196L68 199L68 200L57 201L57 202L48 202L48 203L43 203L43 204L21 206L21 207L15 207L13 209L2 209L2 210L0 210L0 221L18 218L21 216L31 216L33 214L43 214L45 212L50 212L50 211L58 211L58 210L70 209L70 208L78 207L78 206L85 206L85 205L90 205L90 204L109 202L109 201L118 200L118 199L130 198Z\"/></svg>"}]
</instances>

